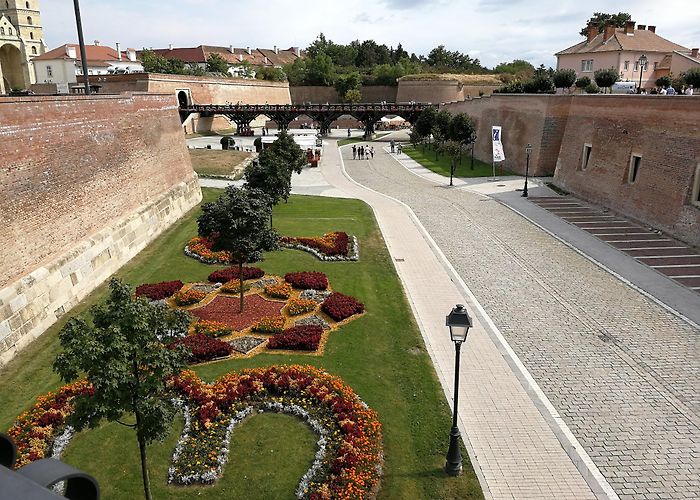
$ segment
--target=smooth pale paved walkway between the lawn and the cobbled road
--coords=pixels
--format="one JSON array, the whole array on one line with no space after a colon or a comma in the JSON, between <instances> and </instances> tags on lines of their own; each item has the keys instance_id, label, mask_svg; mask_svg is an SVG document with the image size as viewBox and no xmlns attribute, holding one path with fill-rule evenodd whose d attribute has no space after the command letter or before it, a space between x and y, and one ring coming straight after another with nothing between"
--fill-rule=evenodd
<instances>
[{"instance_id":1,"label":"smooth pale paved walkway between the lawn and the cobbled road","mask_svg":"<svg viewBox=\"0 0 700 500\"><path fill-rule=\"evenodd\" d=\"M580 447L577 449L575 439L562 431L560 440L552 431L528 395L528 391L537 391L535 384L525 382L526 390L515 376L509 360L517 360L507 352L504 342L493 340L497 332L488 317L474 298L455 284L459 278L450 275L439 250L412 212L402 203L344 176L337 149L327 147L324 153L321 170L328 183L373 208L450 401L454 346L444 326L445 315L454 304L465 303L475 316L475 327L462 350L459 416L465 444L487 498L595 498L591 485L599 497L608 496L605 481L596 477L595 466ZM374 161L393 161L382 158L380 154ZM362 162L362 167L360 162L356 165L369 168L368 162ZM551 410L545 412L547 418L557 419ZM562 441L578 464L567 454ZM614 497L614 493L609 496Z\"/></svg>"}]
</instances>

